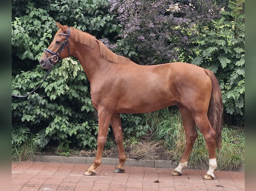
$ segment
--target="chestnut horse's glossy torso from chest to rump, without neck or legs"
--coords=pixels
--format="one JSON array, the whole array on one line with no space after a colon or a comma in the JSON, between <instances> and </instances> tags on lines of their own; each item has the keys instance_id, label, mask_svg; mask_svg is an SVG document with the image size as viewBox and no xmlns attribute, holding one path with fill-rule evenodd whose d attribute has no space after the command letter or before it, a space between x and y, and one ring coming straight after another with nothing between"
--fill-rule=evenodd
<instances>
[{"instance_id":1,"label":"chestnut horse's glossy torso from chest to rump, without neck or legs","mask_svg":"<svg viewBox=\"0 0 256 191\"><path fill-rule=\"evenodd\" d=\"M187 63L116 67L91 87L96 109L104 106L120 113L151 112L204 95L204 87L211 89L204 69Z\"/></svg>"}]
</instances>

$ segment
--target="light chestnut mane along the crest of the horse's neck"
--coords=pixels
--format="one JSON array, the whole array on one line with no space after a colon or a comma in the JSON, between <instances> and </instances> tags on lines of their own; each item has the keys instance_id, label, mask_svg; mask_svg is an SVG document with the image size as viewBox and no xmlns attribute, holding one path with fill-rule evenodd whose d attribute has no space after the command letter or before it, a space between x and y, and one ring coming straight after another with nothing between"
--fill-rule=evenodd
<instances>
[{"instance_id":1,"label":"light chestnut mane along the crest of the horse's neck","mask_svg":"<svg viewBox=\"0 0 256 191\"><path fill-rule=\"evenodd\" d=\"M72 36L75 37L76 42L80 42L81 44L85 44L91 48L95 48L96 43L98 42L100 47L100 55L106 58L108 61L114 63L127 63L130 59L125 58L123 56L117 55L109 50L106 45L104 45L101 41L97 40L95 36L90 35L89 33L80 31L78 29L72 28Z\"/></svg>"}]
</instances>

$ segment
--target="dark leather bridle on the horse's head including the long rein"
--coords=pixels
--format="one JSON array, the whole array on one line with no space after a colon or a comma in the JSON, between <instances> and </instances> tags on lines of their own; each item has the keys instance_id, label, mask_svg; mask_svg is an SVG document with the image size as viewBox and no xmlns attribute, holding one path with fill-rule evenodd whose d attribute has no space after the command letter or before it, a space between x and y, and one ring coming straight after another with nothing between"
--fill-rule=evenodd
<instances>
[{"instance_id":1,"label":"dark leather bridle on the horse's head including the long rein","mask_svg":"<svg viewBox=\"0 0 256 191\"><path fill-rule=\"evenodd\" d=\"M65 39L65 41L62 43L62 45L60 46L60 48L59 48L57 54L55 54L54 52L50 51L49 49L44 50L44 53L46 54L46 57L47 57L47 59L50 61L50 63L52 63L52 62L55 63L55 62L61 62L61 61L62 61L62 59L59 57L59 53L64 50L64 47L65 47L65 45L66 45L67 42L68 42L68 49L69 49L70 27L68 28L68 33L67 33L67 34L60 33L60 34L57 34L57 35L64 35L64 36L66 36L66 39ZM50 54L52 54L53 56L50 58L50 57L48 56L47 52L50 53ZM69 56L70 56L70 49L69 49ZM56 57L56 58L55 58L55 57ZM54 60L54 59L55 59L55 60ZM51 61L52 61L52 62L51 62ZM46 80L46 78L47 78L48 75L50 74L50 71L51 71L52 66L53 66L53 64L51 64L51 67L48 69L48 71L47 71L47 73L46 73L46 76L44 77L43 81L42 81L32 92L29 92L29 93L27 93L27 94L25 94L25 95L14 95L14 94L12 94L12 96L15 96L15 97L26 97L26 96L28 96L28 95L30 95L30 94L33 94L33 93L43 84L43 82Z\"/></svg>"}]
</instances>

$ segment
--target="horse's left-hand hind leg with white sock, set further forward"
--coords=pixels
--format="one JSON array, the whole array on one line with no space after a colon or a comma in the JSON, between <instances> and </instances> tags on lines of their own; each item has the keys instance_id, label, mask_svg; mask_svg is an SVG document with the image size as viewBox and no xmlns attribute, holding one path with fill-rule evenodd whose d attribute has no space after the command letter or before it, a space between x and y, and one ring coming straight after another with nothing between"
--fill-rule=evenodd
<instances>
[{"instance_id":1,"label":"horse's left-hand hind leg with white sock, set further forward","mask_svg":"<svg viewBox=\"0 0 256 191\"><path fill-rule=\"evenodd\" d=\"M186 145L185 145L184 152L181 156L179 165L171 173L172 176L179 176L182 174L181 170L182 168L185 168L187 166L189 155L191 153L191 150L193 148L193 145L198 135L197 129L196 129L196 123L194 119L191 117L187 108L185 108L182 105L179 105L179 109L181 112L181 117L182 117L183 126L185 130L185 135L186 135Z\"/></svg>"}]
</instances>

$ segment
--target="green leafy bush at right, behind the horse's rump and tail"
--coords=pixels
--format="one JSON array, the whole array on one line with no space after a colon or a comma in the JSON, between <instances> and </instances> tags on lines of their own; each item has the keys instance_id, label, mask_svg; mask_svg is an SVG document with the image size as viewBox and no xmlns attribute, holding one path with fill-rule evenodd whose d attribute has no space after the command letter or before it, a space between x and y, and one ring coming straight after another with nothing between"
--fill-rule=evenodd
<instances>
[{"instance_id":1,"label":"green leafy bush at right, behind the horse's rump and tail","mask_svg":"<svg viewBox=\"0 0 256 191\"><path fill-rule=\"evenodd\" d=\"M243 3L244 0L241 0ZM222 17L201 27L191 63L216 74L222 90L225 122L244 126L245 48L244 14L235 1L221 12Z\"/></svg>"}]
</instances>

